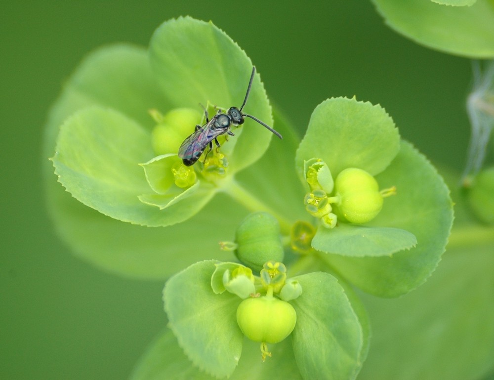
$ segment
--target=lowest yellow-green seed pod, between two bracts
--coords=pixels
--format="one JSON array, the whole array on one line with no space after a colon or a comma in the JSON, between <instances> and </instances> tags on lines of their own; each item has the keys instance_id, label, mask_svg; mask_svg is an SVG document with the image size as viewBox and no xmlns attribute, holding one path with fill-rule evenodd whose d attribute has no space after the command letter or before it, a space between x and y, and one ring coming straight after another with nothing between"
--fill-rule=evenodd
<instances>
[{"instance_id":1,"label":"lowest yellow-green seed pod, between two bracts","mask_svg":"<svg viewBox=\"0 0 494 380\"><path fill-rule=\"evenodd\" d=\"M273 296L244 299L237 309L240 329L255 342L281 342L290 335L296 322L293 306Z\"/></svg>"}]
</instances>

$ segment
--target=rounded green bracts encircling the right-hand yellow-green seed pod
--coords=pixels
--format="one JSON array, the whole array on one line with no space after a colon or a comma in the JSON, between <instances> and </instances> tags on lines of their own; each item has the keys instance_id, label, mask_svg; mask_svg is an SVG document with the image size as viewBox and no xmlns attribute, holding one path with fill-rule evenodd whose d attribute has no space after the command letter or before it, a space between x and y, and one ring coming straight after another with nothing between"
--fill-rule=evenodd
<instances>
[{"instance_id":1,"label":"rounded green bracts encircling the right-hand yellow-green seed pod","mask_svg":"<svg viewBox=\"0 0 494 380\"><path fill-rule=\"evenodd\" d=\"M452 202L430 163L410 144L400 142L386 112L355 99L321 103L296 153L296 169L306 184L306 163L316 162L314 158L327 165L333 177L357 168L373 176L379 188L396 187L396 194L386 198L382 210L364 225L338 219L338 226L329 229L321 221L312 239L315 250L327 253L321 259L347 280L380 296L407 293L425 281L444 252ZM337 205L334 190L313 193ZM426 199L422 194L427 194Z\"/></svg>"}]
</instances>

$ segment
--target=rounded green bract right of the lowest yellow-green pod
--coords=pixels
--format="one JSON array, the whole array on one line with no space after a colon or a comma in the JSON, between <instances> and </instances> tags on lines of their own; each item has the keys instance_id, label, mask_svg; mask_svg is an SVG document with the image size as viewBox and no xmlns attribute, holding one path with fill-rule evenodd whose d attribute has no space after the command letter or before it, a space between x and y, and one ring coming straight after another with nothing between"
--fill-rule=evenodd
<instances>
[{"instance_id":1,"label":"rounded green bract right of the lowest yellow-green pod","mask_svg":"<svg viewBox=\"0 0 494 380\"><path fill-rule=\"evenodd\" d=\"M297 312L293 351L302 377L354 379L361 366L363 331L343 288L328 273L293 279L303 289L291 301Z\"/></svg>"}]
</instances>

